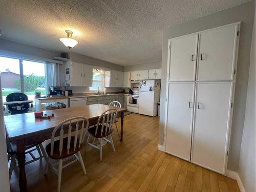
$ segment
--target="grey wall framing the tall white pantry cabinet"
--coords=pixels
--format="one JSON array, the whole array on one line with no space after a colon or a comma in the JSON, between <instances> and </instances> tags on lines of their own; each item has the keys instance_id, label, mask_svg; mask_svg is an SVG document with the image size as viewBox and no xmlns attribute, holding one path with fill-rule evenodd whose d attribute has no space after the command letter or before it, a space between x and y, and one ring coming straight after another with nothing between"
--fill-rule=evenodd
<instances>
[{"instance_id":1,"label":"grey wall framing the tall white pantry cabinet","mask_svg":"<svg viewBox=\"0 0 256 192\"><path fill-rule=\"evenodd\" d=\"M240 146L243 134L246 92L250 64L251 34L255 13L255 1L229 8L214 14L190 20L189 22L166 28L163 31L162 47L162 81L161 110L159 127L159 144L163 145L165 119L165 89L167 71L168 39L198 31L219 27L241 21L237 82L233 108L232 132L229 148L228 169L237 171L240 157Z\"/></svg>"}]
</instances>

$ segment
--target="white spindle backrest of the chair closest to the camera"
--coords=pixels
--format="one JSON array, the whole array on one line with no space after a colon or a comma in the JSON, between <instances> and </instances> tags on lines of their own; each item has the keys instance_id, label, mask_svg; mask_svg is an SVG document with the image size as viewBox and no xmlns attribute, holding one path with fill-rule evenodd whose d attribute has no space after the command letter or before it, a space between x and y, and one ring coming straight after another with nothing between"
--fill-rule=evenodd
<instances>
[{"instance_id":1,"label":"white spindle backrest of the chair closest to the camera","mask_svg":"<svg viewBox=\"0 0 256 192\"><path fill-rule=\"evenodd\" d=\"M80 136L79 136L79 144L77 145L77 138L78 138L78 131L79 131L79 123L81 124L81 132L80 132ZM72 125L74 126L75 124L75 131L72 132ZM59 135L59 155L61 155L62 153L62 149L63 149L63 135L64 135L64 131L63 128L65 129L68 125L68 143L67 143L67 149L68 149L68 154L69 154L69 150L70 150L70 146L74 146L74 151L76 150L76 147L80 147L81 143L83 142L84 136L86 136L87 130L88 130L88 126L89 126L89 121L87 118L85 117L72 117L69 118L67 120L64 120L62 122L60 122L53 130L52 132L52 137L51 137L51 155L53 155L53 148L54 148L54 138L55 138L55 134L56 132L60 129L60 135ZM71 143L71 133L75 134L75 139L73 141L73 143ZM66 137L65 137L66 138Z\"/></svg>"}]
</instances>

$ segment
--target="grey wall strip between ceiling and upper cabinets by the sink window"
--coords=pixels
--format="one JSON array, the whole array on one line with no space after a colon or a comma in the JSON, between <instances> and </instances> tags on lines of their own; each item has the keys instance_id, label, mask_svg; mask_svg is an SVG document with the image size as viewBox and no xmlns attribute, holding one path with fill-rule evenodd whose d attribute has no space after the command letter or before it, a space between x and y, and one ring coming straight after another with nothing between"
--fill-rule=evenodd
<instances>
[{"instance_id":1,"label":"grey wall strip between ceiling and upper cabinets by the sink window","mask_svg":"<svg viewBox=\"0 0 256 192\"><path fill-rule=\"evenodd\" d=\"M112 62L95 59L93 57L89 57L86 55L81 55L73 52L70 52L69 56L72 61L82 62L84 64L98 66L102 68L108 68L108 69L117 70L117 71L123 71L123 66L116 65Z\"/></svg>"}]
</instances>

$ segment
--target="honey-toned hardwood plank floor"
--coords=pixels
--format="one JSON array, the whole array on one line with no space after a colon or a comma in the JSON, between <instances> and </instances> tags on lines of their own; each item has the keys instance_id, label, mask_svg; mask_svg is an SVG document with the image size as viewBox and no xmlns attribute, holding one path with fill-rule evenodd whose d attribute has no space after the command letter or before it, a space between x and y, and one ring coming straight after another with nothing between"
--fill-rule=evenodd
<instances>
[{"instance_id":1,"label":"honey-toned hardwood plank floor","mask_svg":"<svg viewBox=\"0 0 256 192\"><path fill-rule=\"evenodd\" d=\"M120 120L118 121L120 127ZM114 133L116 152L103 146L82 153L87 175L76 162L62 170L61 191L240 191L236 180L158 151L159 117L124 117L124 139ZM57 176L44 176L45 160L26 165L28 191L56 191ZM18 191L18 168L11 190Z\"/></svg>"}]
</instances>

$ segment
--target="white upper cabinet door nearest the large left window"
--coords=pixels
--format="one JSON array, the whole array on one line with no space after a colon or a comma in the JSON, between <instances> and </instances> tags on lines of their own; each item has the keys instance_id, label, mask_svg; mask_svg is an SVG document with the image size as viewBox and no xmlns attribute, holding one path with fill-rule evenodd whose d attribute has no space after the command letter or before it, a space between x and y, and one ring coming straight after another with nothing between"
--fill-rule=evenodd
<instances>
[{"instance_id":1,"label":"white upper cabinet door nearest the large left window","mask_svg":"<svg viewBox=\"0 0 256 192\"><path fill-rule=\"evenodd\" d=\"M82 63L72 62L71 70L71 86L82 86Z\"/></svg>"}]
</instances>

